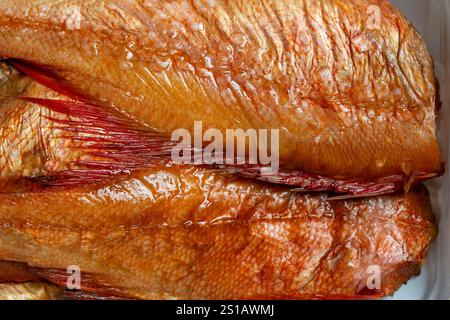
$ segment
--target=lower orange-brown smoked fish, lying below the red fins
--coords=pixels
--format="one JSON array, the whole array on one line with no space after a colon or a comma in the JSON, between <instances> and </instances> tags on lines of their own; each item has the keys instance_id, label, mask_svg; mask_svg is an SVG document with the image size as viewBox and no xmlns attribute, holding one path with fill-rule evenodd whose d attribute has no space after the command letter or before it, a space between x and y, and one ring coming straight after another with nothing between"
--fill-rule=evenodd
<instances>
[{"instance_id":1,"label":"lower orange-brown smoked fish, lying below the red fins","mask_svg":"<svg viewBox=\"0 0 450 320\"><path fill-rule=\"evenodd\" d=\"M161 168L84 195L0 195L0 259L58 284L78 265L100 296L364 298L416 275L436 236L423 187L342 201L272 188ZM371 265L382 285L368 292Z\"/></svg>"}]
</instances>

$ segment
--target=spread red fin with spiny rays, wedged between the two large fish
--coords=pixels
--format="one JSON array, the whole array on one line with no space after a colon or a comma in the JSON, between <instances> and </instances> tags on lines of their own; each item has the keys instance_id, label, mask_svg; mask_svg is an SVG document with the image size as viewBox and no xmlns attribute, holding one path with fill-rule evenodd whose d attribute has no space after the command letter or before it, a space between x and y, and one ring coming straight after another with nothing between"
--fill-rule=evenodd
<instances>
[{"instance_id":1,"label":"spread red fin with spiny rays, wedged between the two large fish","mask_svg":"<svg viewBox=\"0 0 450 320\"><path fill-rule=\"evenodd\" d=\"M129 173L168 163L174 143L165 136L144 130L132 120L115 114L114 110L84 102L23 97L22 99L68 115L68 119L52 118L55 129L63 133L60 139L82 142L82 153L95 160L77 160L78 168L60 171L38 178L51 186L76 186L102 181L118 174ZM79 145L76 144L78 150Z\"/></svg>"}]
</instances>

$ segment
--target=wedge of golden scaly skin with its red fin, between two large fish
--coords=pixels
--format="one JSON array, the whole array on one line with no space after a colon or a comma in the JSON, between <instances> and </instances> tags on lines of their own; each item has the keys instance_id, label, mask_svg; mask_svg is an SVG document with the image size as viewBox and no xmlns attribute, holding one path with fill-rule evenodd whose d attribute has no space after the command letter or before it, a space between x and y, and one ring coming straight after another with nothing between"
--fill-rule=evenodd
<instances>
[{"instance_id":1,"label":"wedge of golden scaly skin with its red fin, between two large fish","mask_svg":"<svg viewBox=\"0 0 450 320\"><path fill-rule=\"evenodd\" d=\"M5 78L0 83L0 193L39 190L56 184L56 179L67 186L86 184L89 174L101 181L164 158L159 149L165 147L165 137L161 141L160 135L134 129L130 120L114 118L96 106L80 105L77 114L60 111L58 104L71 111L78 102L31 78L15 76L6 63L0 62L0 67L0 77ZM89 112L94 119L87 117ZM173 146L170 142L165 147L166 162Z\"/></svg>"}]
</instances>

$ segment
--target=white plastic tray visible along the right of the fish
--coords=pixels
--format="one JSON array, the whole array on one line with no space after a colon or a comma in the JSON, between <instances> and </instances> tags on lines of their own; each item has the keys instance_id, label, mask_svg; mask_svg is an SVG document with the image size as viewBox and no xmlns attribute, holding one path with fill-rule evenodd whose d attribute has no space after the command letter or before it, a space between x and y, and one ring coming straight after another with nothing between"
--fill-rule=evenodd
<instances>
[{"instance_id":1,"label":"white plastic tray visible along the right of the fish","mask_svg":"<svg viewBox=\"0 0 450 320\"><path fill-rule=\"evenodd\" d=\"M450 0L391 0L420 31L433 55L442 108L439 139L446 161L444 177L427 183L439 235L419 277L389 299L450 299Z\"/></svg>"}]
</instances>

